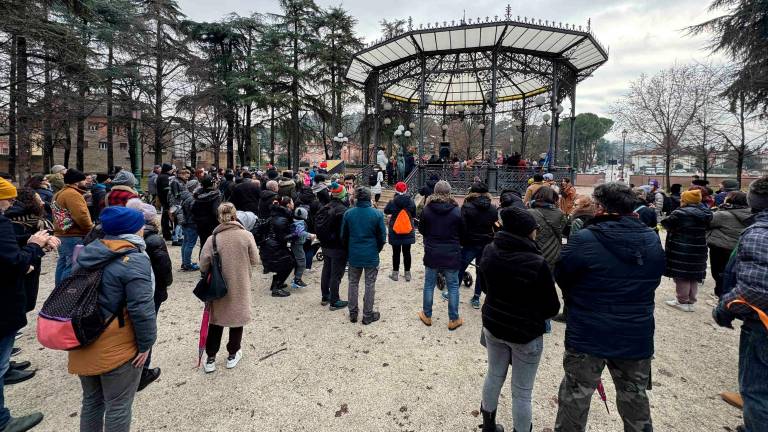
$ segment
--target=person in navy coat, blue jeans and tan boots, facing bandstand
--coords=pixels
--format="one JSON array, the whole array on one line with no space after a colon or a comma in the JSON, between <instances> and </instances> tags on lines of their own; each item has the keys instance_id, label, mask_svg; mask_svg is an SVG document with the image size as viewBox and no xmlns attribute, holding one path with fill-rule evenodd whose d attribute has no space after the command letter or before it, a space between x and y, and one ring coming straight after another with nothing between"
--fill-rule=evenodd
<instances>
[{"instance_id":1,"label":"person in navy coat, blue jeans and tan boots, facing bandstand","mask_svg":"<svg viewBox=\"0 0 768 432\"><path fill-rule=\"evenodd\" d=\"M426 326L432 325L432 301L437 274L445 276L448 286L448 330L456 330L464 324L459 316L459 269L461 268L461 243L464 224L459 205L451 197L451 185L440 180L427 198L421 212L419 232L424 237L424 296L419 319Z\"/></svg>"}]
</instances>

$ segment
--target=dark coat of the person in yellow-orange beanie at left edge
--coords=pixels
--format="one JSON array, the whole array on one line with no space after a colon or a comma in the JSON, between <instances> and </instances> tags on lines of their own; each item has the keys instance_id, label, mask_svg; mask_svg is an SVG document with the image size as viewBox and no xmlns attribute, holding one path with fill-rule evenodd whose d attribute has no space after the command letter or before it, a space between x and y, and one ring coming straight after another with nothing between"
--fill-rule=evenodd
<instances>
[{"instance_id":1,"label":"dark coat of the person in yellow-orange beanie at left edge","mask_svg":"<svg viewBox=\"0 0 768 432\"><path fill-rule=\"evenodd\" d=\"M36 244L17 243L11 221L0 214L0 337L13 335L27 325L27 291L24 276L29 266L39 267L45 255Z\"/></svg>"}]
</instances>

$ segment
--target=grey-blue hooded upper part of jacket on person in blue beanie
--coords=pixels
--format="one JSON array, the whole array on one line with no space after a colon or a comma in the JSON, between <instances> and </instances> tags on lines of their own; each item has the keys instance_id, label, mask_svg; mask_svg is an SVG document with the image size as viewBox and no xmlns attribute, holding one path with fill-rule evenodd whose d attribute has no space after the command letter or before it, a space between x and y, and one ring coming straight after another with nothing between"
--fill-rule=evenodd
<instances>
[{"instance_id":1,"label":"grey-blue hooded upper part of jacket on person in blue beanie","mask_svg":"<svg viewBox=\"0 0 768 432\"><path fill-rule=\"evenodd\" d=\"M89 243L77 256L77 266L88 269L104 262L99 306L104 317L128 309L139 352L146 352L157 338L155 287L152 265L141 246L113 251L101 240Z\"/></svg>"}]
</instances>

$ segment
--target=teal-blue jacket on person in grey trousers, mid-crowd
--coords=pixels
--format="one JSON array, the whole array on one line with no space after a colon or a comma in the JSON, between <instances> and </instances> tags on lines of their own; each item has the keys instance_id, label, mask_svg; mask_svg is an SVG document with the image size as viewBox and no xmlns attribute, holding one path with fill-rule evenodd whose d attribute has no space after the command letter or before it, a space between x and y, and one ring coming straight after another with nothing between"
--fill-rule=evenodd
<instances>
[{"instance_id":1,"label":"teal-blue jacket on person in grey trousers, mid-crowd","mask_svg":"<svg viewBox=\"0 0 768 432\"><path fill-rule=\"evenodd\" d=\"M371 207L371 201L358 200L344 213L341 238L347 247L352 267L378 267L379 252L387 242L384 215Z\"/></svg>"}]
</instances>

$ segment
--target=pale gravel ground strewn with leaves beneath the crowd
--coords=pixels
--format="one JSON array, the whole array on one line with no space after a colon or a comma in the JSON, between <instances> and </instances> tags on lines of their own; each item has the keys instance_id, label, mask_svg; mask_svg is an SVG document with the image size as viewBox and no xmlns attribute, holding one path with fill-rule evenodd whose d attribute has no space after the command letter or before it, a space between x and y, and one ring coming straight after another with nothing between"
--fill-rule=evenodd
<instances>
[{"instance_id":1,"label":"pale gravel ground strewn with leaves beneath the crowd","mask_svg":"<svg viewBox=\"0 0 768 432\"><path fill-rule=\"evenodd\" d=\"M447 303L439 293L433 326L419 322L424 276L420 244L419 239L410 283L402 276L392 282L386 276L391 270L389 246L381 254L376 307L382 319L370 326L350 323L346 310L331 312L320 306L321 263L305 276L309 287L285 299L269 296L268 275L255 270L254 321L245 329L243 360L237 368L225 369L224 342L218 370L207 375L194 368L202 312L192 295L196 276L176 272L158 317L153 354L162 376L137 395L134 430L477 430L486 372L485 350L479 344L480 311L470 307L471 291L462 288L463 327L448 331ZM171 248L171 254L178 266L180 248ZM44 259L39 305L53 285L54 259ZM345 277L342 298L346 289ZM657 291L656 357L649 393L656 430L718 431L740 424L741 413L718 396L737 388L738 332L713 325L712 290L707 280L699 307L691 314L663 305L674 295L670 279L664 278ZM31 360L37 377L7 387L6 404L17 415L43 411L45 420L36 430L77 430L79 381L67 374L65 353L37 343L34 316L30 318L17 343L23 352L15 359ZM549 431L554 425L564 330L553 323L552 334L545 336L533 398L535 431ZM595 396L590 430L622 430L607 371L603 379L610 414ZM499 420L512 429L509 386L501 395Z\"/></svg>"}]
</instances>

